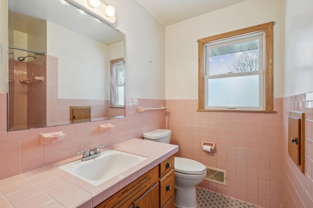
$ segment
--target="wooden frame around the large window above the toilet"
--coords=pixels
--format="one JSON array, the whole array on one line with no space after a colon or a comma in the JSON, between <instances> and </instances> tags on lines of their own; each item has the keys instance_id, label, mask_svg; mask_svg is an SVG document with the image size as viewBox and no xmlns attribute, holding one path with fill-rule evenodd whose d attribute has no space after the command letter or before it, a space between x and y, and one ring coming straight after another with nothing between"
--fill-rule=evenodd
<instances>
[{"instance_id":1,"label":"wooden frame around the large window above the toilet","mask_svg":"<svg viewBox=\"0 0 313 208\"><path fill-rule=\"evenodd\" d=\"M273 25L274 22L259 24L207 38L198 40L198 111L233 111L233 112L266 112L274 113L273 110ZM264 74L264 110L217 110L204 109L204 67L203 67L203 48L204 45L226 38L244 35L252 32L264 32L265 38L265 74Z\"/></svg>"}]
</instances>

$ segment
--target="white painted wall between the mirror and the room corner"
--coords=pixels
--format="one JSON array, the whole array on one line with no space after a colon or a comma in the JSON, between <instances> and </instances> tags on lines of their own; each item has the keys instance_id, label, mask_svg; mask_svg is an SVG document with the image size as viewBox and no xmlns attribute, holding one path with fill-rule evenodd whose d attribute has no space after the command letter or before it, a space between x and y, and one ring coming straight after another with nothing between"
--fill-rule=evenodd
<instances>
[{"instance_id":1,"label":"white painted wall between the mirror and the room corner","mask_svg":"<svg viewBox=\"0 0 313 208\"><path fill-rule=\"evenodd\" d=\"M165 99L165 27L136 0L106 0L126 34L126 97Z\"/></svg>"}]
</instances>

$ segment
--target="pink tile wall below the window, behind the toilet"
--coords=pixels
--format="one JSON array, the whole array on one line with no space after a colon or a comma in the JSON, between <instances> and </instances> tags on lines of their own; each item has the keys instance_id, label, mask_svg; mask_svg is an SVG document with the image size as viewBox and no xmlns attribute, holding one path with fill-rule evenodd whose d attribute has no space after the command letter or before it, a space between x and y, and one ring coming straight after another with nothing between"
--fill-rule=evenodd
<instances>
[{"instance_id":1,"label":"pink tile wall below the window, behind the toilet","mask_svg":"<svg viewBox=\"0 0 313 208\"><path fill-rule=\"evenodd\" d=\"M166 127L178 156L227 171L227 185L204 180L201 187L265 208L280 208L282 101L277 113L200 112L198 100L167 100ZM201 142L217 144L216 153Z\"/></svg>"}]
</instances>

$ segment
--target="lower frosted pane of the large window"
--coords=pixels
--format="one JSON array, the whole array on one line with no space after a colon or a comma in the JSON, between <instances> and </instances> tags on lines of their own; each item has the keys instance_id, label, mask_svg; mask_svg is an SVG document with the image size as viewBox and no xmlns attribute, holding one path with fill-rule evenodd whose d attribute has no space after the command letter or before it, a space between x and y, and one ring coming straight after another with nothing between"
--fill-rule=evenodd
<instances>
[{"instance_id":1,"label":"lower frosted pane of the large window","mask_svg":"<svg viewBox=\"0 0 313 208\"><path fill-rule=\"evenodd\" d=\"M209 79L208 106L259 107L259 75Z\"/></svg>"}]
</instances>

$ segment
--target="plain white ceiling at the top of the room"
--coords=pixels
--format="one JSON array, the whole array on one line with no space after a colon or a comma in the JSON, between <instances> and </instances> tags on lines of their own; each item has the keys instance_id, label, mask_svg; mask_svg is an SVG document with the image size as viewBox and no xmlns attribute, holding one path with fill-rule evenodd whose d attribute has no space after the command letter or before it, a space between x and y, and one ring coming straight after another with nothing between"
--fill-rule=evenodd
<instances>
[{"instance_id":1,"label":"plain white ceiling at the top of the room","mask_svg":"<svg viewBox=\"0 0 313 208\"><path fill-rule=\"evenodd\" d=\"M245 0L137 0L164 26L176 24Z\"/></svg>"}]
</instances>

